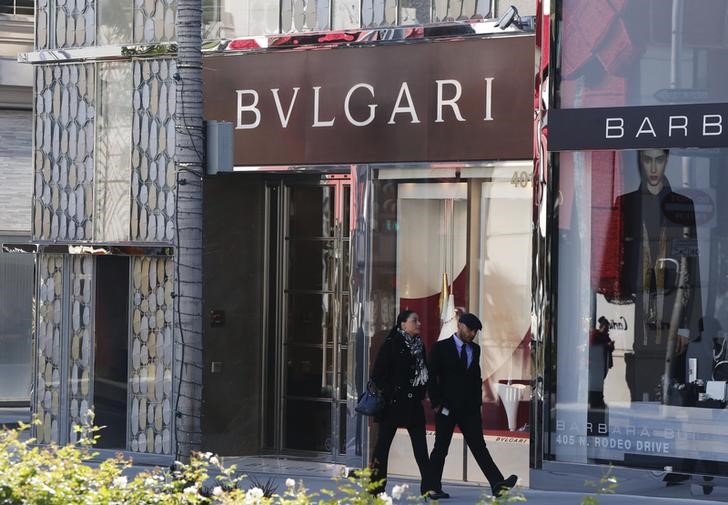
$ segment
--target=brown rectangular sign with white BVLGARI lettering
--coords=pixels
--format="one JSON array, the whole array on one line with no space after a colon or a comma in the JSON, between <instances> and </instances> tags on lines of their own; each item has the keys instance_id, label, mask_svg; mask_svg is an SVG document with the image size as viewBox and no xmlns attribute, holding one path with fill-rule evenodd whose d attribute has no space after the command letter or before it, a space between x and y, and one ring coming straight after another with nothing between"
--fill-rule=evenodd
<instances>
[{"instance_id":1,"label":"brown rectangular sign with white BVLGARI lettering","mask_svg":"<svg viewBox=\"0 0 728 505\"><path fill-rule=\"evenodd\" d=\"M533 37L204 59L236 166L532 157Z\"/></svg>"}]
</instances>

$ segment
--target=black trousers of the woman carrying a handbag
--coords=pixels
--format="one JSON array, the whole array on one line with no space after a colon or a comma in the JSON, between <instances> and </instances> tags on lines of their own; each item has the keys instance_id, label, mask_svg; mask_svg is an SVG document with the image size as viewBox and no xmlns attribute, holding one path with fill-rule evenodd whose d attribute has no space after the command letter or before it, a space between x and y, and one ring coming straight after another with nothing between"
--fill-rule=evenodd
<instances>
[{"instance_id":1,"label":"black trousers of the woman carrying a handbag","mask_svg":"<svg viewBox=\"0 0 728 505\"><path fill-rule=\"evenodd\" d=\"M413 408L422 409L422 405L414 405ZM427 475L429 472L429 458L427 457L427 439L425 438L425 418L424 411L422 415L412 415L408 423L403 426L407 428L407 432L412 442L412 452L414 452L415 461L420 469L420 492L424 494L428 489L425 487ZM389 449L392 446L394 435L397 434L397 428L402 425L396 418L384 418L379 422L379 434L377 443L374 446L372 461L369 468L372 470L372 481L382 481L380 486L374 490L375 494L384 491L387 485L387 464L389 461Z\"/></svg>"}]
</instances>

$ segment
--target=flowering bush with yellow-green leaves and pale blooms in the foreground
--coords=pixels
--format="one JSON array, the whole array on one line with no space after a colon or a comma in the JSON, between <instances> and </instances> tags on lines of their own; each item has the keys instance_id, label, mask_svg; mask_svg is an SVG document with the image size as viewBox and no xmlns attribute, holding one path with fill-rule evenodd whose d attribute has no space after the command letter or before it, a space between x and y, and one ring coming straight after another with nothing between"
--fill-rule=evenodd
<instances>
[{"instance_id":1,"label":"flowering bush with yellow-green leaves and pale blooms in the foreground","mask_svg":"<svg viewBox=\"0 0 728 505\"><path fill-rule=\"evenodd\" d=\"M19 430L0 431L0 505L392 505L422 502L407 495L407 484L396 485L392 495L373 495L377 486L369 470L347 472L335 478L334 490L309 491L302 481L285 481L285 490L260 484L245 488L234 466L224 467L211 453L196 453L190 462L171 468L133 474L131 462L121 455L96 464L93 444L97 428L81 430L72 445L34 445ZM214 477L213 477L214 475ZM269 481L270 483L271 481ZM518 501L524 499L520 495ZM479 503L506 503L484 497ZM515 501L515 500L514 500Z\"/></svg>"}]
</instances>

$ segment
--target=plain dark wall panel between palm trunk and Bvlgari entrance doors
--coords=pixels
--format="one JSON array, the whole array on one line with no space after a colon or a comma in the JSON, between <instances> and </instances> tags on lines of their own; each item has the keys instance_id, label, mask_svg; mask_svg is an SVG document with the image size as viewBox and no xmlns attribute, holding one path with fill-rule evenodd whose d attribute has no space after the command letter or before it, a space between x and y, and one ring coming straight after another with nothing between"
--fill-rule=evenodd
<instances>
[{"instance_id":1,"label":"plain dark wall panel between palm trunk and Bvlgari entrance doors","mask_svg":"<svg viewBox=\"0 0 728 505\"><path fill-rule=\"evenodd\" d=\"M203 447L222 455L261 446L264 190L255 176L205 181ZM213 310L223 325L212 325Z\"/></svg>"}]
</instances>

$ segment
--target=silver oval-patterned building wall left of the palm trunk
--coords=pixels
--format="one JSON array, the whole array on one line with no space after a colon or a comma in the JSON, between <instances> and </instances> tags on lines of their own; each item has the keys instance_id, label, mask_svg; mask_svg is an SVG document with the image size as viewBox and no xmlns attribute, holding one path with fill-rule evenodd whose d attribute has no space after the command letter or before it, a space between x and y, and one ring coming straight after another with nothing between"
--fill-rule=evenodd
<instances>
[{"instance_id":1,"label":"silver oval-patterned building wall left of the palm trunk","mask_svg":"<svg viewBox=\"0 0 728 505\"><path fill-rule=\"evenodd\" d=\"M38 255L33 411L41 420L35 435L44 442L75 441L74 427L96 408L116 426L108 439L101 433L100 447L171 455L179 401L173 386L177 270L170 254L175 55L109 61L83 52L103 43L118 56L122 43L174 40L174 1L135 4L49 1L36 10L36 49L65 51L49 63L34 53L29 229L41 248L52 242L93 250L111 243L132 257ZM110 17L109 9L119 6L112 14L121 20ZM125 24L133 25L128 39L117 30ZM109 289L113 278L129 279L116 286L121 296ZM118 316L126 320L110 323L109 304L119 299L127 300L128 311Z\"/></svg>"}]
</instances>

